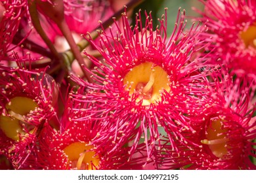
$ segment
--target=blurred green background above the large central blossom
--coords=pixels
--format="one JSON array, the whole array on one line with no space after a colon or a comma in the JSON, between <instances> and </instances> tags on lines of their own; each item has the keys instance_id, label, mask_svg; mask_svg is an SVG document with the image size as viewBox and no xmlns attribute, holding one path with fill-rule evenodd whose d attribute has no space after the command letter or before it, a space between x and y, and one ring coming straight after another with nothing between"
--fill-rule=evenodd
<instances>
[{"instance_id":1,"label":"blurred green background above the large central blossom","mask_svg":"<svg viewBox=\"0 0 256 183\"><path fill-rule=\"evenodd\" d=\"M156 25L158 24L158 18L161 18L161 15L165 13L166 7L168 8L167 33L170 35L173 32L179 7L181 7L181 10L186 10L186 16L199 16L192 10L192 7L202 9L203 5L198 0L145 0L139 7L135 8L134 12L138 12L139 9L141 9L142 12L144 12L144 10L147 12L152 11L153 24ZM135 20L135 13L133 13L133 20ZM192 20L189 18L187 20L188 23L186 28L189 28L192 24Z\"/></svg>"}]
</instances>

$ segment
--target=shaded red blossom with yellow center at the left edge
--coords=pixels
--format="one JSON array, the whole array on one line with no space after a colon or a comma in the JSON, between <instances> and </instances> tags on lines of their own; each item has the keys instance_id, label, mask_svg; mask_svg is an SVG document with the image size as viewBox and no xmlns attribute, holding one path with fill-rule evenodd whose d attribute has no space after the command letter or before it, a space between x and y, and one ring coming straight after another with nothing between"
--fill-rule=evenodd
<instances>
[{"instance_id":1,"label":"shaded red blossom with yellow center at the left edge","mask_svg":"<svg viewBox=\"0 0 256 183\"><path fill-rule=\"evenodd\" d=\"M58 87L45 73L3 66L0 66L0 86L0 154L15 169L22 169L33 156L31 150L42 125L52 124L56 115L53 98Z\"/></svg>"}]
</instances>

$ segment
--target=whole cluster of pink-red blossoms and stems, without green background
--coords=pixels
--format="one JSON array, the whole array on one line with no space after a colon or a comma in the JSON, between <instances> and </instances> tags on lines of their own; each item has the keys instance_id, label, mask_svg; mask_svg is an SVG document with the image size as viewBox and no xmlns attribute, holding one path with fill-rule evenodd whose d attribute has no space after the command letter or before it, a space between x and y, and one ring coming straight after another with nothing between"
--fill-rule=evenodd
<instances>
[{"instance_id":1,"label":"whole cluster of pink-red blossoms and stems, without green background","mask_svg":"<svg viewBox=\"0 0 256 183\"><path fill-rule=\"evenodd\" d=\"M199 1L168 35L142 1L1 0L0 168L256 169L256 1Z\"/></svg>"}]
</instances>

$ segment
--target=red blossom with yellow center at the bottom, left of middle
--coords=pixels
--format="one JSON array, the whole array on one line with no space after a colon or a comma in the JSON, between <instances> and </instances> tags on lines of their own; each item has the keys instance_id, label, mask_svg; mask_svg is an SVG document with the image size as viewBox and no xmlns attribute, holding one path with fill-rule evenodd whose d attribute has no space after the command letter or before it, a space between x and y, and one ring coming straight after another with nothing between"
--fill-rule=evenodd
<instances>
[{"instance_id":1,"label":"red blossom with yellow center at the bottom, left of middle","mask_svg":"<svg viewBox=\"0 0 256 183\"><path fill-rule=\"evenodd\" d=\"M82 92L81 90L79 90ZM80 93L78 92L78 93ZM86 120L89 103L76 100L70 93L65 105L60 131L45 125L39 135L38 169L141 169L144 156L129 159L129 147L109 154L110 146L95 146L93 139L102 127L96 120ZM102 142L103 143L103 142ZM141 152L143 147L140 146ZM137 152L139 154L139 152Z\"/></svg>"}]
</instances>

